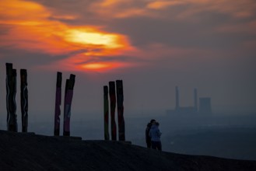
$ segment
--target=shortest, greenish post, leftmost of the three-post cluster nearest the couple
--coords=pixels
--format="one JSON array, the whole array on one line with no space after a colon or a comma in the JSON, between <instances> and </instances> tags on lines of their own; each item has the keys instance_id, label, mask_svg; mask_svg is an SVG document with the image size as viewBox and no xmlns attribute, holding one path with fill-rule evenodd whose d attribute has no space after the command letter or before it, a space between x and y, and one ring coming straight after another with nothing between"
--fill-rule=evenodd
<instances>
[{"instance_id":1,"label":"shortest, greenish post, leftmost of the three-post cluster nearest the couple","mask_svg":"<svg viewBox=\"0 0 256 171\"><path fill-rule=\"evenodd\" d=\"M108 87L107 86L103 86L103 92L104 92L104 96L103 96L103 103L104 103L104 138L105 140L110 140L110 135L109 135L109 131L108 131L108 127L109 127L109 122L108 122L108 118L109 118L109 106L108 106Z\"/></svg>"}]
</instances>

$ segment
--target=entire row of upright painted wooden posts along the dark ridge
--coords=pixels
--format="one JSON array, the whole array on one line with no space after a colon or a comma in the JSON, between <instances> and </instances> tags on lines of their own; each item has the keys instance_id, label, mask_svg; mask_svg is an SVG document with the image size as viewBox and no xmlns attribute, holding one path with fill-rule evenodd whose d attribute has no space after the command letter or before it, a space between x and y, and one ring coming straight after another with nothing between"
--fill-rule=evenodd
<instances>
[{"instance_id":1,"label":"entire row of upright painted wooden posts along the dark ridge","mask_svg":"<svg viewBox=\"0 0 256 171\"><path fill-rule=\"evenodd\" d=\"M6 109L7 109L7 130L18 131L16 116L16 69L12 68L12 63L6 63ZM60 135L60 115L61 115L61 82L62 73L57 72L55 111L54 111L54 135ZM116 83L116 85L115 85ZM70 117L72 96L75 86L75 75L70 75L65 82L64 98L64 120L63 135L70 136ZM116 88L115 88L116 87ZM115 91L117 90L117 91ZM117 93L116 93L117 92ZM109 98L108 98L109 95ZM125 141L124 130L124 92L122 80L109 82L109 87L103 86L103 117L104 117L104 139L110 140L109 136L109 99L110 99L110 127L111 140L117 140L117 126L115 123L115 110L117 103L118 138ZM27 132L28 127L28 89L26 69L20 69L20 106L22 113L22 132Z\"/></svg>"}]
</instances>

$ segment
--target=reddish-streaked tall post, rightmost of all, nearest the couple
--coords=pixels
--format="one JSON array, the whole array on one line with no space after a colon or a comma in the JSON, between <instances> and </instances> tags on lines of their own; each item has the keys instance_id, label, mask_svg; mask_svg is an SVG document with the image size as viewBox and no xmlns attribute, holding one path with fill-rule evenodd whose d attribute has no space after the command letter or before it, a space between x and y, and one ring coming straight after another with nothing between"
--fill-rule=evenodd
<instances>
[{"instance_id":1,"label":"reddish-streaked tall post, rightmost of all, nearest the couple","mask_svg":"<svg viewBox=\"0 0 256 171\"><path fill-rule=\"evenodd\" d=\"M119 137L119 141L125 141L123 81L116 80L116 86L117 86L118 137Z\"/></svg>"}]
</instances>

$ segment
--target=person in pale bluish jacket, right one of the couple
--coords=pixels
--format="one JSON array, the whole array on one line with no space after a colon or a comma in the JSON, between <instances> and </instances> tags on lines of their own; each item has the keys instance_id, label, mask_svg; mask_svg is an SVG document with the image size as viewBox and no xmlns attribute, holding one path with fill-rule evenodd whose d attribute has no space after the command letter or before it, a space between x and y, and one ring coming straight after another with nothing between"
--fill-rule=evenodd
<instances>
[{"instance_id":1,"label":"person in pale bluish jacket, right one of the couple","mask_svg":"<svg viewBox=\"0 0 256 171\"><path fill-rule=\"evenodd\" d=\"M151 138L152 148L162 151L162 143L160 139L162 132L160 132L159 125L158 122L153 123L149 131L149 137Z\"/></svg>"}]
</instances>

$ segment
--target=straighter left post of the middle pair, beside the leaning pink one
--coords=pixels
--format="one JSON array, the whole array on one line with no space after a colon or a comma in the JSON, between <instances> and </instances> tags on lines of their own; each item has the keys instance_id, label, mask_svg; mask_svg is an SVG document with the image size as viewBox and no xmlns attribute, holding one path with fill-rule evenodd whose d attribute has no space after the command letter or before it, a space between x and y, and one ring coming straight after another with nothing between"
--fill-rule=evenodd
<instances>
[{"instance_id":1,"label":"straighter left post of the middle pair, beside the leaning pink one","mask_svg":"<svg viewBox=\"0 0 256 171\"><path fill-rule=\"evenodd\" d=\"M55 94L55 114L54 114L54 135L55 136L60 135L61 82L62 82L62 73L57 72L56 94Z\"/></svg>"}]
</instances>

